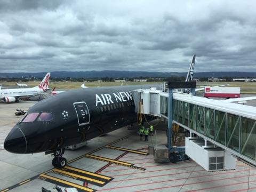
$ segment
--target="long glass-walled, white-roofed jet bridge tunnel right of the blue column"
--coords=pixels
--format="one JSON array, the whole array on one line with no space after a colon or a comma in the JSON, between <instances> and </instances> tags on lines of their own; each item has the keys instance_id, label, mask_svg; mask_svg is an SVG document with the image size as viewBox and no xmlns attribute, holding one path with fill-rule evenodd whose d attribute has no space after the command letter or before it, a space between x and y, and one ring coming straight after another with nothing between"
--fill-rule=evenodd
<instances>
[{"instance_id":1,"label":"long glass-walled, white-roofed jet bridge tunnel right of the blue column","mask_svg":"<svg viewBox=\"0 0 256 192\"><path fill-rule=\"evenodd\" d=\"M256 108L173 94L172 119L199 137L256 166Z\"/></svg>"}]
</instances>

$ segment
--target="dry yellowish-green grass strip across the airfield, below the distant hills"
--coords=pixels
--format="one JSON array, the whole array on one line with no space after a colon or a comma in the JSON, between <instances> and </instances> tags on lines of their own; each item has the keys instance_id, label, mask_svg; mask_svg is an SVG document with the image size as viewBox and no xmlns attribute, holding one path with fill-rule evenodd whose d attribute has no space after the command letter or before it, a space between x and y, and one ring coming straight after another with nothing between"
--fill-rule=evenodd
<instances>
[{"instance_id":1,"label":"dry yellowish-green grass strip across the airfield, below the distant hills","mask_svg":"<svg viewBox=\"0 0 256 192\"><path fill-rule=\"evenodd\" d=\"M40 82L27 82L28 87L37 86ZM97 86L119 86L121 82L50 82L49 87L56 90L61 89L80 89L82 84L87 87ZM145 84L162 84L163 82L124 82L125 85L145 85ZM14 86L14 82L0 82L3 86ZM22 83L25 84L25 83ZM241 87L242 94L256 94L256 82L197 82L197 87L200 86L218 86L229 84L229 87ZM18 86L17 86L18 87Z\"/></svg>"}]
</instances>

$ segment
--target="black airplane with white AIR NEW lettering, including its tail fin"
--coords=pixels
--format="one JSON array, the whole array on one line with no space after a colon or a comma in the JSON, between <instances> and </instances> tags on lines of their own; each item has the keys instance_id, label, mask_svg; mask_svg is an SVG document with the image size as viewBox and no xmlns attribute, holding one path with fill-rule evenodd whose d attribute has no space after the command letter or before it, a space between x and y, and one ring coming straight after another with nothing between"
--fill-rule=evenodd
<instances>
[{"instance_id":1,"label":"black airplane with white AIR NEW lettering, including its tail fin","mask_svg":"<svg viewBox=\"0 0 256 192\"><path fill-rule=\"evenodd\" d=\"M194 71L194 62L195 55L188 73ZM130 91L152 86L94 87L53 95L29 108L7 135L4 148L17 154L53 154L52 165L62 168L67 164L65 147L137 122Z\"/></svg>"}]
</instances>

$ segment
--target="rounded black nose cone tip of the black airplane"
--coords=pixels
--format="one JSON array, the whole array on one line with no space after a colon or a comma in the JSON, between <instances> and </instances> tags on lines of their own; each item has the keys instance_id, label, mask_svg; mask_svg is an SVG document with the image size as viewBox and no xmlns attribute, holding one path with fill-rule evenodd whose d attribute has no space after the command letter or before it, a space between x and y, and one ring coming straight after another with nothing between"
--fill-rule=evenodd
<instances>
[{"instance_id":1,"label":"rounded black nose cone tip of the black airplane","mask_svg":"<svg viewBox=\"0 0 256 192\"><path fill-rule=\"evenodd\" d=\"M25 154L27 151L27 140L18 127L13 127L4 141L5 150L11 153Z\"/></svg>"}]
</instances>

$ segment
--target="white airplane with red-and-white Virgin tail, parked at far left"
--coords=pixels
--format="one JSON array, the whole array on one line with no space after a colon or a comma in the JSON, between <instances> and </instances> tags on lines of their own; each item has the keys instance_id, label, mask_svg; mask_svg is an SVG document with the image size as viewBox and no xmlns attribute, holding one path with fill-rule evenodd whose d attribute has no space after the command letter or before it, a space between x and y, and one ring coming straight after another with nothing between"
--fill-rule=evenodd
<instances>
[{"instance_id":1,"label":"white airplane with red-and-white Virgin tail, parked at far left","mask_svg":"<svg viewBox=\"0 0 256 192\"><path fill-rule=\"evenodd\" d=\"M19 98L30 98L43 94L49 89L48 85L50 75L51 73L47 73L43 81L39 85L32 88L0 90L0 101L4 100L4 102L19 102Z\"/></svg>"}]
</instances>

